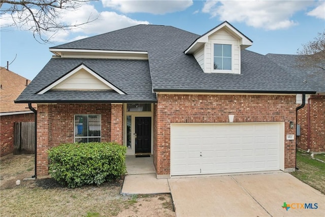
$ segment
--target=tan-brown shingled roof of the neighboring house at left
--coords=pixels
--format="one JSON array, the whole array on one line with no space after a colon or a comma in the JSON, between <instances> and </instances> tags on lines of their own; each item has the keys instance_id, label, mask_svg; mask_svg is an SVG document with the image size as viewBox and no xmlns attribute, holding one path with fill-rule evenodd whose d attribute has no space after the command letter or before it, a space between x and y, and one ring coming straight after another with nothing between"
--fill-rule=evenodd
<instances>
[{"instance_id":1,"label":"tan-brown shingled roof of the neighboring house at left","mask_svg":"<svg viewBox=\"0 0 325 217\"><path fill-rule=\"evenodd\" d=\"M15 104L14 101L26 88L30 80L7 70L5 67L0 69L0 113L10 114L15 112L30 111L27 104ZM36 106L36 105L34 105ZM31 111L30 111L31 112Z\"/></svg>"}]
</instances>

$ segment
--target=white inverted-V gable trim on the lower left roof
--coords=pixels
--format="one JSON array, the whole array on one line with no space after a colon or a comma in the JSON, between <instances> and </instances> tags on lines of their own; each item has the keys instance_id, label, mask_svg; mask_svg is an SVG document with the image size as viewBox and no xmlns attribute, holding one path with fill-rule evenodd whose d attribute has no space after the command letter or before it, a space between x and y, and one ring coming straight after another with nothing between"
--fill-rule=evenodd
<instances>
[{"instance_id":1,"label":"white inverted-V gable trim on the lower left roof","mask_svg":"<svg viewBox=\"0 0 325 217\"><path fill-rule=\"evenodd\" d=\"M96 79L100 80L101 82L103 82L104 84L106 84L107 86L109 86L111 89L115 90L116 92L118 92L120 95L125 95L125 93L123 91L121 91L120 89L118 89L116 86L114 86L113 84L111 84L110 82L108 82L107 80L105 80L104 78L102 78L101 76L99 76L97 73L95 73L94 71L92 71L91 69L89 69L88 67L86 67L85 65L80 65L79 67L77 67L76 69L72 70L71 72L69 72L68 74L64 75L63 77L61 77L60 79L58 79L57 81L53 82L52 84L50 84L49 86L47 86L46 88L42 89L41 91L39 91L37 94L44 94L45 92L49 91L50 89L52 89L53 87L59 85L60 83L62 83L63 81L66 81L68 78L70 78L71 76L73 76L74 74L76 74L77 72L79 72L81 69L84 69L85 71L87 71L89 74L91 74L92 76L94 76Z\"/></svg>"}]
</instances>

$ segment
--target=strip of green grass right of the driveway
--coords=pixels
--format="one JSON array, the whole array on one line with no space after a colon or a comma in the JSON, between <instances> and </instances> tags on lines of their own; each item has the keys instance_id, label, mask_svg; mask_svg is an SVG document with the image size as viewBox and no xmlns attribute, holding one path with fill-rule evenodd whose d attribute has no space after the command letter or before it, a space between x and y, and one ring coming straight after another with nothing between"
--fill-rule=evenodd
<instances>
[{"instance_id":1,"label":"strip of green grass right of the driveway","mask_svg":"<svg viewBox=\"0 0 325 217\"><path fill-rule=\"evenodd\" d=\"M323 160L324 158L319 157L321 155L317 154L314 158ZM299 170L291 173L293 176L325 194L325 163L312 159L310 153L298 151L297 167Z\"/></svg>"}]
</instances>

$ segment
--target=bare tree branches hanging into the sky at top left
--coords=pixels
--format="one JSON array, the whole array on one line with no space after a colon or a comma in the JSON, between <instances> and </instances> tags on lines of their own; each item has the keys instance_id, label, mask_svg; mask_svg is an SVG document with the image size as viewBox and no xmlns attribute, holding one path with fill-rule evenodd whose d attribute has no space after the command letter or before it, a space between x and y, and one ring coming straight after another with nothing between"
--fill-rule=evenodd
<instances>
[{"instance_id":1,"label":"bare tree branches hanging into the sky at top left","mask_svg":"<svg viewBox=\"0 0 325 217\"><path fill-rule=\"evenodd\" d=\"M71 30L96 20L98 17L89 14L84 22L62 21L64 12L74 11L93 1L99 0L0 0L0 19L4 19L6 15L7 19L11 17L11 21L2 25L2 28L16 26L30 30L38 42L47 43L59 30Z\"/></svg>"}]
</instances>

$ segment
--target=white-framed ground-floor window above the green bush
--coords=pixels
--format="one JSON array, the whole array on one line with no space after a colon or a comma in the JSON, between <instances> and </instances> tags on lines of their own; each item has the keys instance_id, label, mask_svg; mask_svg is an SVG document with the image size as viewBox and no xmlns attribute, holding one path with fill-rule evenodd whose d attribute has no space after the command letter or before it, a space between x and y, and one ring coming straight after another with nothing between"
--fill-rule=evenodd
<instances>
[{"instance_id":1,"label":"white-framed ground-floor window above the green bush","mask_svg":"<svg viewBox=\"0 0 325 217\"><path fill-rule=\"evenodd\" d=\"M100 114L76 114L75 142L100 142L101 127Z\"/></svg>"}]
</instances>

